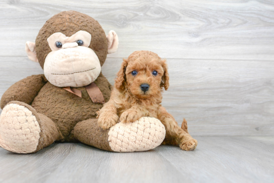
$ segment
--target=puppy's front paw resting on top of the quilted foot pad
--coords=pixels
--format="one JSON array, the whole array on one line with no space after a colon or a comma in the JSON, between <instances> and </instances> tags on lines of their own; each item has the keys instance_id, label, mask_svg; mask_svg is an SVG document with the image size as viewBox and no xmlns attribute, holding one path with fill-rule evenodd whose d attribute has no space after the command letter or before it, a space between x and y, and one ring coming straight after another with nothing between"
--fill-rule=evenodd
<instances>
[{"instance_id":1,"label":"puppy's front paw resting on top of the quilted foot pad","mask_svg":"<svg viewBox=\"0 0 274 183\"><path fill-rule=\"evenodd\" d=\"M121 114L120 120L122 123L129 123L137 121L139 118L148 115L149 112L145 107L140 105L133 105L131 108Z\"/></svg>"}]
</instances>

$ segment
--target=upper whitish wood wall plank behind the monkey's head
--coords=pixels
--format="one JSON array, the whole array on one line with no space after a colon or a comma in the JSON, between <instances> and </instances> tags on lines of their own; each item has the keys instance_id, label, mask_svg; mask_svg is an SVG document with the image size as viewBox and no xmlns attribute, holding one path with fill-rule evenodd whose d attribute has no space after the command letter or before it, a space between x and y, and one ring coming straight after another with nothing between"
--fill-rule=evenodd
<instances>
[{"instance_id":1,"label":"upper whitish wood wall plank behind the monkey's head","mask_svg":"<svg viewBox=\"0 0 274 183\"><path fill-rule=\"evenodd\" d=\"M136 50L179 59L274 58L273 0L1 0L0 56L25 56L25 42L64 10L94 17L106 33L115 30L114 58Z\"/></svg>"}]
</instances>

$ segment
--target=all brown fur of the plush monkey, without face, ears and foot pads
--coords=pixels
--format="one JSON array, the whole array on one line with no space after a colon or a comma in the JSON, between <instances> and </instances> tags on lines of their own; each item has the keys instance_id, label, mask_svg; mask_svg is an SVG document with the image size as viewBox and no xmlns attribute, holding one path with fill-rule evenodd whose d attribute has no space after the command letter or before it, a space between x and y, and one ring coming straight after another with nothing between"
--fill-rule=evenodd
<instances>
[{"instance_id":1,"label":"all brown fur of the plush monkey, without face, ears and foot pads","mask_svg":"<svg viewBox=\"0 0 274 183\"><path fill-rule=\"evenodd\" d=\"M79 30L92 35L89 48L94 50L102 66L107 57L108 44L101 25L88 15L76 11L64 11L50 18L37 35L35 49L41 67L43 68L47 54L51 52L47 42L51 34L61 32L71 36ZM108 80L100 73L94 83L102 92L105 101L108 101L112 89ZM5 91L0 106L3 108L8 102L19 102L32 111L41 129L36 151L49 146L54 141L81 141L104 150L111 150L106 140L109 130L104 130L102 133L102 129L97 126L96 111L103 104L93 103L85 87L77 90L82 92L82 97L53 86L44 75L33 75L15 83ZM77 123L79 125L73 131Z\"/></svg>"}]
</instances>

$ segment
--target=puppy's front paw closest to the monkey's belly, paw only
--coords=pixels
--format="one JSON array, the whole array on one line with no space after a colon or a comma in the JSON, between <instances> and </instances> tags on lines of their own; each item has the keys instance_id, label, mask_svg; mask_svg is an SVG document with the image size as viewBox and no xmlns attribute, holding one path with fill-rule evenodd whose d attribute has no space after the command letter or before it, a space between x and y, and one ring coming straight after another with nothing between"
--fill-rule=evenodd
<instances>
[{"instance_id":1,"label":"puppy's front paw closest to the monkey's belly, paw only","mask_svg":"<svg viewBox=\"0 0 274 183\"><path fill-rule=\"evenodd\" d=\"M115 113L101 114L98 118L98 125L106 130L115 125L118 119L119 117Z\"/></svg>"}]
</instances>

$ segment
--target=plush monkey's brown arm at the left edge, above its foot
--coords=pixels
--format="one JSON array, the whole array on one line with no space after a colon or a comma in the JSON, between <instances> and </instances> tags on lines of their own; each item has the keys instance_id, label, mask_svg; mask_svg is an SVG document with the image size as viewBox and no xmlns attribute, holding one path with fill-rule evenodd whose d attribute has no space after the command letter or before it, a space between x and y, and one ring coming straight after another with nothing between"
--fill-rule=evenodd
<instances>
[{"instance_id":1,"label":"plush monkey's brown arm at the left edge, above its foot","mask_svg":"<svg viewBox=\"0 0 274 183\"><path fill-rule=\"evenodd\" d=\"M18 81L4 92L1 97L0 107L3 107L10 101L22 101L31 104L41 88L47 83L43 74L32 75Z\"/></svg>"}]
</instances>

